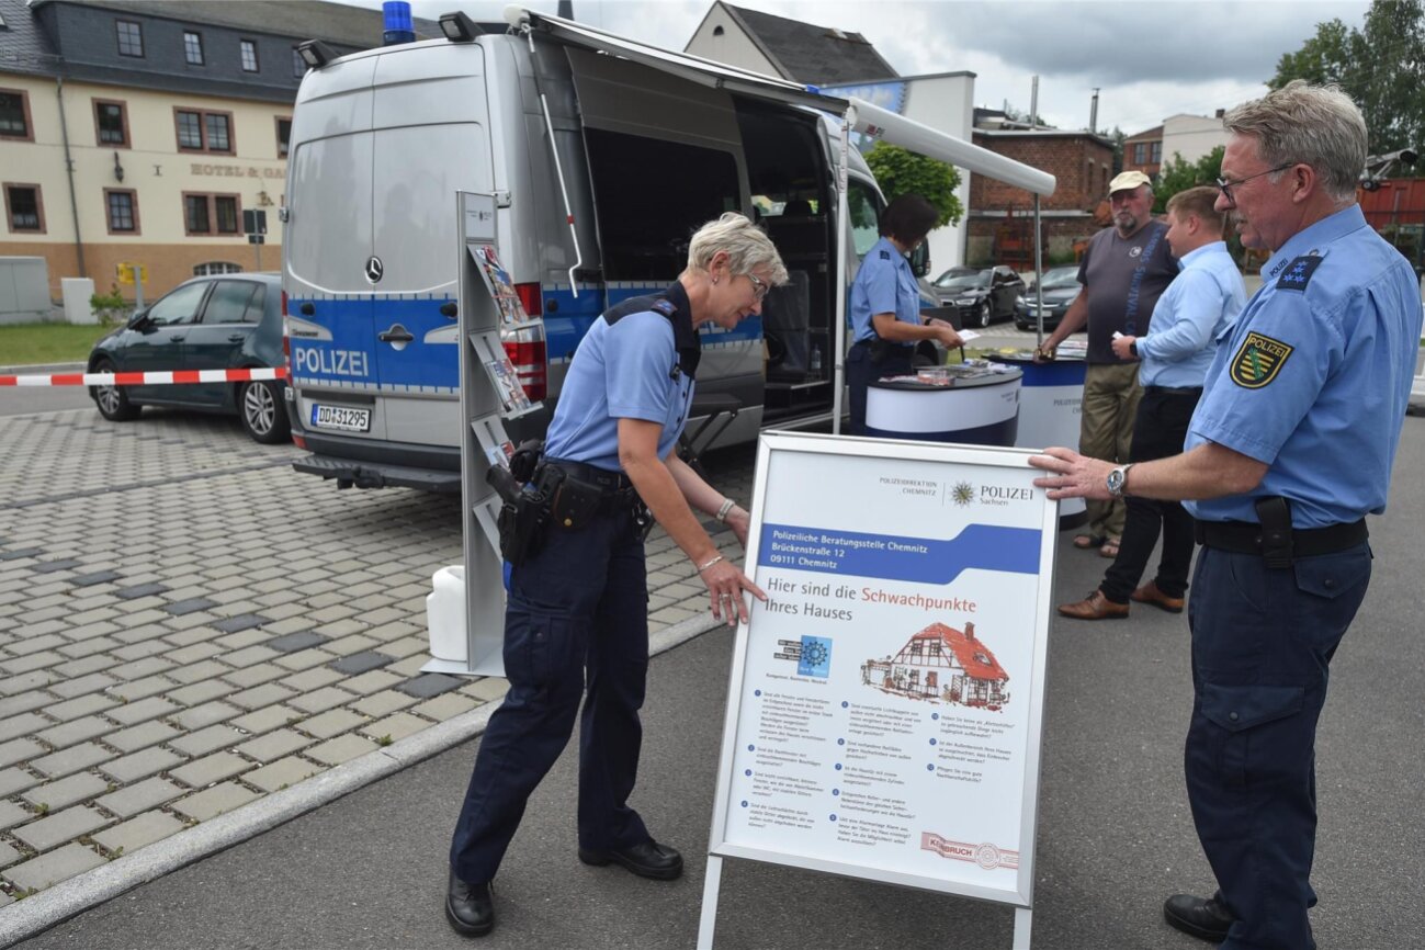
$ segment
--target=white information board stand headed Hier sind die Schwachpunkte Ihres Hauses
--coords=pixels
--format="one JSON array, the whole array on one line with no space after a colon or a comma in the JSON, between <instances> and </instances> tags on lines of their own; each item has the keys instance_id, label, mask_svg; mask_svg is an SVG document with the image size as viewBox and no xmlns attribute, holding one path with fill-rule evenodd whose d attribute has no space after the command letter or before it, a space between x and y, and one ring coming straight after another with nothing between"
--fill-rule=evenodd
<instances>
[{"instance_id":1,"label":"white information board stand headed Hier sind die Schwachpunkte Ihres Hauses","mask_svg":"<svg viewBox=\"0 0 1425 950\"><path fill-rule=\"evenodd\" d=\"M1027 910L1057 527L1029 454L762 436L712 856Z\"/></svg>"}]
</instances>

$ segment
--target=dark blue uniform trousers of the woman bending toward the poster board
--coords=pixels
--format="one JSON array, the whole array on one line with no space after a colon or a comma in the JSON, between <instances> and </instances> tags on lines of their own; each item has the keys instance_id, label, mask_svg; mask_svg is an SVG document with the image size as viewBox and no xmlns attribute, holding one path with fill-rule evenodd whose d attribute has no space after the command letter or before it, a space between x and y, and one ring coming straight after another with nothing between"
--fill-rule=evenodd
<instances>
[{"instance_id":1,"label":"dark blue uniform trousers of the woman bending toward the poster board","mask_svg":"<svg viewBox=\"0 0 1425 950\"><path fill-rule=\"evenodd\" d=\"M456 877L494 877L526 800L569 742L584 694L579 845L616 850L647 840L627 805L648 675L647 571L627 510L598 514L580 531L550 528L543 548L512 571L504 674L510 689L480 741L450 842Z\"/></svg>"}]
</instances>

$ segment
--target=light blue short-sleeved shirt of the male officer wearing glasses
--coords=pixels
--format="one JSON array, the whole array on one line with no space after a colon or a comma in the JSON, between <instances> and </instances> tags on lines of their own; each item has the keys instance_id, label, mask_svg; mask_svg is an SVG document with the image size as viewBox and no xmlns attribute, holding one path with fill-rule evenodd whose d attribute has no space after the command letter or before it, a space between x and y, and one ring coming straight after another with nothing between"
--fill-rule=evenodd
<instances>
[{"instance_id":1,"label":"light blue short-sleeved shirt of the male officer wearing glasses","mask_svg":"<svg viewBox=\"0 0 1425 950\"><path fill-rule=\"evenodd\" d=\"M1271 466L1247 496L1187 501L1204 521L1257 521L1291 501L1298 528L1385 510L1421 338L1411 265L1352 205L1294 235L1218 340L1187 447L1216 442Z\"/></svg>"}]
</instances>

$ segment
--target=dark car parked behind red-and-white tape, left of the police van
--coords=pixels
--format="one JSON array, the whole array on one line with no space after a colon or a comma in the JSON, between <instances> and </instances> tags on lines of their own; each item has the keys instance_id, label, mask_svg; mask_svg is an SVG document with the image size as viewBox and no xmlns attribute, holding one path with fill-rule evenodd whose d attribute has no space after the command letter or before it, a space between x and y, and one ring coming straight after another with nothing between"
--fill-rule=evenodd
<instances>
[{"instance_id":1,"label":"dark car parked behind red-and-white tape, left of the police van","mask_svg":"<svg viewBox=\"0 0 1425 950\"><path fill-rule=\"evenodd\" d=\"M282 283L276 273L224 273L180 283L137 310L90 353L88 372L259 369L284 366ZM90 386L104 419L137 419L144 406L237 413L256 442L291 434L281 380Z\"/></svg>"}]
</instances>

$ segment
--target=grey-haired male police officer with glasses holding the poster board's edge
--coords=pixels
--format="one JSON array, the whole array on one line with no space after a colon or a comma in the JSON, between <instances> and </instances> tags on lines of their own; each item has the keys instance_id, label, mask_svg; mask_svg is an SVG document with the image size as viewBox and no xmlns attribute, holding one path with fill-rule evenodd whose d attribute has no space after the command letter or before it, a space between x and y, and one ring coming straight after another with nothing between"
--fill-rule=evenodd
<instances>
[{"instance_id":1,"label":"grey-haired male police officer with glasses holding the poster board's edge","mask_svg":"<svg viewBox=\"0 0 1425 950\"><path fill-rule=\"evenodd\" d=\"M1315 731L1330 662L1371 575L1421 333L1409 263L1365 224L1365 122L1334 87L1291 83L1234 108L1217 207L1263 286L1223 338L1186 451L1110 466L1030 463L1049 497L1197 499L1193 719L1184 766L1211 899L1178 930L1228 950L1314 946Z\"/></svg>"}]
</instances>

